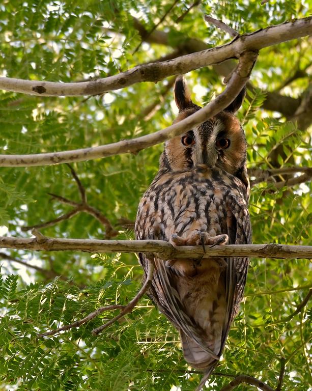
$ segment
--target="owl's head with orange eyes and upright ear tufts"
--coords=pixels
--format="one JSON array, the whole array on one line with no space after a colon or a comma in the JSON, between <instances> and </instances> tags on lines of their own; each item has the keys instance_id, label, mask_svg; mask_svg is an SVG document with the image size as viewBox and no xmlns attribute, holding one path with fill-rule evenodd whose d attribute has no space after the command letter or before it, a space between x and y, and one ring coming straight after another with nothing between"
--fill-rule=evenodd
<instances>
[{"instance_id":1,"label":"owl's head with orange eyes and upright ear tufts","mask_svg":"<svg viewBox=\"0 0 312 391\"><path fill-rule=\"evenodd\" d=\"M201 107L194 104L182 76L178 76L174 87L179 115L175 122L195 113ZM234 113L245 96L243 89L234 101L215 117L181 136L165 143L163 164L169 170L188 170L204 164L219 167L238 177L248 186L246 171L246 139L244 131Z\"/></svg>"}]
</instances>

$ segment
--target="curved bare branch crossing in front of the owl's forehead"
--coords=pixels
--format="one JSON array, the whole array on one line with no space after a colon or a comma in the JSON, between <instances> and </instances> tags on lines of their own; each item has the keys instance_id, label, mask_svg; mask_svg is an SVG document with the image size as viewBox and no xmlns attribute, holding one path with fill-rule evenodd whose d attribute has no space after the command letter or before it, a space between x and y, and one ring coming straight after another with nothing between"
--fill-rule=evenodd
<instances>
[{"instance_id":1,"label":"curved bare branch crossing in front of the owl's forehead","mask_svg":"<svg viewBox=\"0 0 312 391\"><path fill-rule=\"evenodd\" d=\"M107 144L100 147L35 155L0 155L0 166L24 167L68 163L72 161L86 161L122 153L137 153L141 149L162 143L167 139L182 134L192 127L207 121L207 119L213 117L224 107L228 106L235 99L238 92L244 87L256 59L257 53L255 52L246 52L242 54L239 59L238 67L233 72L228 85L220 95L201 110L196 111L196 113L184 120L168 126L165 129L145 136L123 140L118 143Z\"/></svg>"}]
</instances>

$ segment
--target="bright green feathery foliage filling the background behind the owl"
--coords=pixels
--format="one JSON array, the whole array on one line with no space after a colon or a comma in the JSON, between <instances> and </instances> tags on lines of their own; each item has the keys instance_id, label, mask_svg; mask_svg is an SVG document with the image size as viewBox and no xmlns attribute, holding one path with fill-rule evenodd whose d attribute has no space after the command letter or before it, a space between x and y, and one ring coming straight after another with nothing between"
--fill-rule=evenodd
<instances>
[{"instance_id":1,"label":"bright green feathery foliage filling the background behind the owl","mask_svg":"<svg viewBox=\"0 0 312 391\"><path fill-rule=\"evenodd\" d=\"M203 2L190 0L54 2L6 0L0 5L1 76L74 82L106 77L154 61L189 42L208 46L230 37L203 21L204 13L228 22L239 33L252 32L308 14L307 2ZM167 15L164 17L164 15ZM167 33L165 45L141 43L132 16L152 36ZM163 18L164 17L164 18ZM156 24L163 18L159 26ZM265 111L267 93L293 98L308 87L311 48L306 39L261 51L239 118L248 142L250 169L311 167L311 133L280 113ZM216 68L187 75L194 101L209 101L223 85ZM62 151L150 134L172 123L171 79L139 83L103 96L37 97L0 93L0 146L3 153ZM285 84L286 83L286 84ZM202 95L202 97L200 96ZM203 98L203 99L201 99ZM147 109L149 108L150 109ZM162 146L73 164L88 204L131 239L125 221L134 221L141 194L158 169ZM278 181L287 176L276 177ZM251 179L257 179L251 176ZM274 182L252 187L253 242L310 244L311 183ZM1 168L0 231L27 236L25 226L53 220L72 210L51 199L53 193L81 202L68 166ZM102 239L107 228L94 216L77 213L42 229L46 236ZM82 319L100 306L126 304L140 287L134 254L90 256L79 253L30 253L2 250L0 282L0 390L193 390L200 375L182 357L178 333L146 297L133 313L99 337L91 331L115 312L105 312L77 329L53 337L38 334ZM280 358L286 358L282 389L307 390L311 310L292 316L310 287L307 260L253 259L246 298L231 329L216 373L257 377L275 388ZM229 378L214 374L207 389ZM241 390L250 386L241 385Z\"/></svg>"}]
</instances>

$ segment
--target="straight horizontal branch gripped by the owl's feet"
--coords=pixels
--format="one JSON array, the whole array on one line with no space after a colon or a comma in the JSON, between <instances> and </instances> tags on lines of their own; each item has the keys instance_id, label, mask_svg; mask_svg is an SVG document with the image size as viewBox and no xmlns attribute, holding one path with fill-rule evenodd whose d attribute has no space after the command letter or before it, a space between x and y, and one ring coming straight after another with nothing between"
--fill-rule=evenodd
<instances>
[{"instance_id":1,"label":"straight horizontal branch gripped by the owl's feet","mask_svg":"<svg viewBox=\"0 0 312 391\"><path fill-rule=\"evenodd\" d=\"M312 246L286 244L229 244L206 247L174 247L164 240L56 239L39 233L35 238L0 236L0 248L35 251L82 251L87 253L154 253L162 259L256 257L312 259Z\"/></svg>"}]
</instances>

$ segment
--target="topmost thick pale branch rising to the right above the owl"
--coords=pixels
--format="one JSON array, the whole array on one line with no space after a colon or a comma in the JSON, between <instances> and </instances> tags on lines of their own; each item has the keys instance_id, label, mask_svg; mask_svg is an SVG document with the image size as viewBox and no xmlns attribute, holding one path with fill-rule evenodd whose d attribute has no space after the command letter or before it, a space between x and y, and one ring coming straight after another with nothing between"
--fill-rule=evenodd
<instances>
[{"instance_id":1,"label":"topmost thick pale branch rising to the right above the owl","mask_svg":"<svg viewBox=\"0 0 312 391\"><path fill-rule=\"evenodd\" d=\"M238 58L248 50L260 50L292 39L312 34L312 17L269 26L235 38L232 42L211 49L183 55L171 61L138 65L126 72L102 79L60 83L51 81L20 80L0 77L0 89L37 96L81 96L103 94L142 81L157 82L165 77Z\"/></svg>"}]
</instances>

